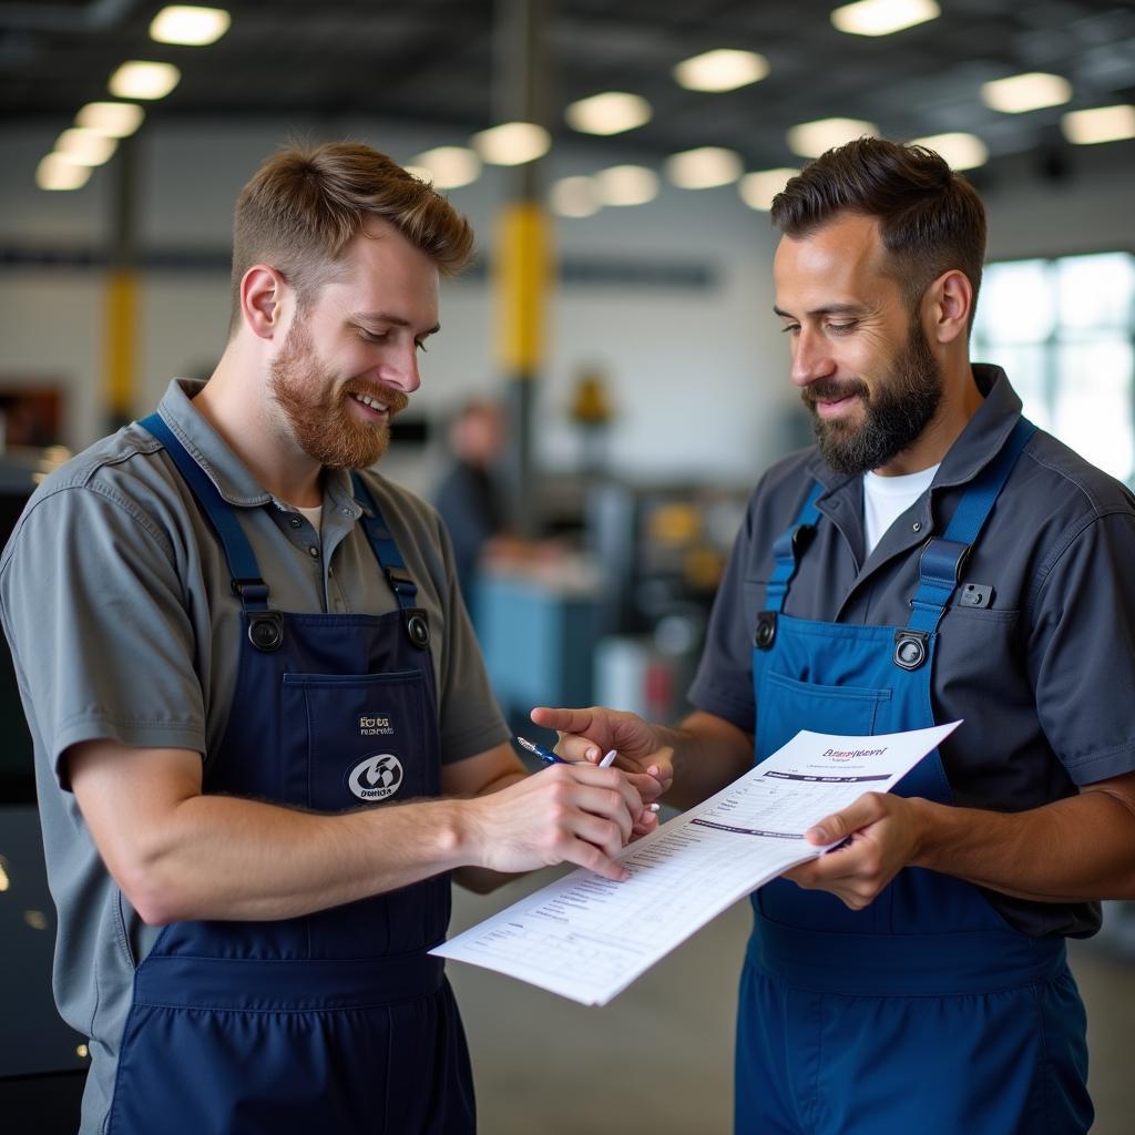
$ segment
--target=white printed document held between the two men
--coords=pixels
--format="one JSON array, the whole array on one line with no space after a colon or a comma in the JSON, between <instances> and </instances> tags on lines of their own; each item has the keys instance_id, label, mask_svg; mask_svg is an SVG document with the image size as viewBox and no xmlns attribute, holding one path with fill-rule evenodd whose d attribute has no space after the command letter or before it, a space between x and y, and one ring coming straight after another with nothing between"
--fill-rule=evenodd
<instances>
[{"instance_id":1,"label":"white printed document held between the two men","mask_svg":"<svg viewBox=\"0 0 1135 1135\"><path fill-rule=\"evenodd\" d=\"M800 732L729 788L625 847L621 883L580 868L431 953L606 1004L738 899L823 855L804 833L888 792L960 722L878 737ZM539 774L537 774L539 775Z\"/></svg>"}]
</instances>

